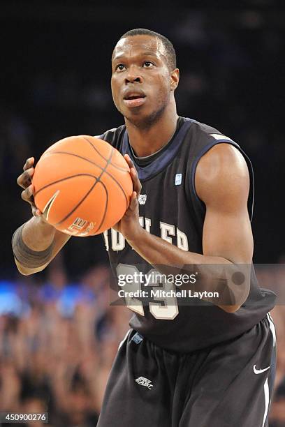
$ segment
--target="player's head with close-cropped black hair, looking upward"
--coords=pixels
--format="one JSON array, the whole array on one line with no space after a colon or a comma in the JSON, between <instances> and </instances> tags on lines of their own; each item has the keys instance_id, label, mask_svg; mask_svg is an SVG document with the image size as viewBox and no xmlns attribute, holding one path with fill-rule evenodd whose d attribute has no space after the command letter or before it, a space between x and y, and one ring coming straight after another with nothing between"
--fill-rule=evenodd
<instances>
[{"instance_id":1,"label":"player's head with close-cropped black hair, looking upward","mask_svg":"<svg viewBox=\"0 0 285 427\"><path fill-rule=\"evenodd\" d=\"M126 121L149 127L175 109L179 82L175 50L168 38L147 29L125 33L112 53L112 97Z\"/></svg>"}]
</instances>

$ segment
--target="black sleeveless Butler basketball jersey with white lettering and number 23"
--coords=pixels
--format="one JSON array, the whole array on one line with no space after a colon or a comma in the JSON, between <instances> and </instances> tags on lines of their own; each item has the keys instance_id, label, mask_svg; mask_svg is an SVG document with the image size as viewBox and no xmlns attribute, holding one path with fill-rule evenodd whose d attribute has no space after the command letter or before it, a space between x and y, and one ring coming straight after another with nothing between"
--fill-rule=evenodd
<instances>
[{"instance_id":1,"label":"black sleeveless Butler basketball jersey with white lettering and number 23","mask_svg":"<svg viewBox=\"0 0 285 427\"><path fill-rule=\"evenodd\" d=\"M233 144L239 149L249 167L251 188L249 193L249 216L254 202L254 176L249 158L238 144L219 130L181 117L180 128L161 155L152 163L139 167L138 177L142 183L139 199L140 225L182 250L203 254L202 236L205 205L196 194L194 178L200 158L215 144ZM100 136L122 154L133 158L126 126L111 129ZM147 273L153 267L133 250L122 234L115 230L104 233L110 262L119 274ZM140 285L136 285L138 289ZM156 345L177 352L193 352L210 345L235 338L254 327L275 306L276 295L261 289L251 268L249 297L235 313L226 313L212 304L171 306L166 309L163 301L130 308L135 312L130 325L142 336Z\"/></svg>"}]
</instances>

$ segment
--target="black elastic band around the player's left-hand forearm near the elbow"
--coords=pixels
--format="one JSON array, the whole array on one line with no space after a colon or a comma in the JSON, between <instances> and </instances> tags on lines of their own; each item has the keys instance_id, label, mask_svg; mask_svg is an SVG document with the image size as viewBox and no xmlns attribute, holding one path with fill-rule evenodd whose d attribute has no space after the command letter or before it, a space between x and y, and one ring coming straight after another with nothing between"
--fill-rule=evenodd
<instances>
[{"instance_id":1,"label":"black elastic band around the player's left-hand forearm near the elbow","mask_svg":"<svg viewBox=\"0 0 285 427\"><path fill-rule=\"evenodd\" d=\"M52 248L54 247L54 242L46 248L45 250L32 250L24 244L22 239L22 229L24 224L21 227L17 228L12 237L12 248L15 259L22 264L23 267L28 267L34 269L41 267L47 262L50 261L52 256Z\"/></svg>"}]
</instances>

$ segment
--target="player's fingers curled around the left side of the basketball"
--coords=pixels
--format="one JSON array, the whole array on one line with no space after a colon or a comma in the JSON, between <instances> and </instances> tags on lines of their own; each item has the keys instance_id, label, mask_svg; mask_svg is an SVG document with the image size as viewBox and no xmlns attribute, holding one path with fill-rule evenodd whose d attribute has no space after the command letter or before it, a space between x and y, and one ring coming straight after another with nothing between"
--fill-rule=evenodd
<instances>
[{"instance_id":1,"label":"player's fingers curled around the left side of the basketball","mask_svg":"<svg viewBox=\"0 0 285 427\"><path fill-rule=\"evenodd\" d=\"M33 215L41 216L42 213L40 209L36 207L36 204L34 202L35 188L31 183L31 179L35 172L34 161L34 157L27 158L26 163L23 167L24 172L20 175L20 177L17 177L17 184L18 186L24 188L24 191L22 191L21 194L22 200L28 202L31 205L31 212L33 213Z\"/></svg>"}]
</instances>

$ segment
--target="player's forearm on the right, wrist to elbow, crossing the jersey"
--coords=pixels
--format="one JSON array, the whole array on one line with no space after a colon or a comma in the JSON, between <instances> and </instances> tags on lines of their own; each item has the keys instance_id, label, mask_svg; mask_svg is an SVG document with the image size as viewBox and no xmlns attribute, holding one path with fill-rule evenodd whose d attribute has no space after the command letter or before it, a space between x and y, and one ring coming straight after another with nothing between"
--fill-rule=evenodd
<instances>
[{"instance_id":1,"label":"player's forearm on the right, wrist to elbow, crossing the jersey","mask_svg":"<svg viewBox=\"0 0 285 427\"><path fill-rule=\"evenodd\" d=\"M128 239L131 247L163 274L196 274L195 292L217 292L219 297L202 299L233 312L247 299L249 293L250 268L246 264L234 264L219 256L201 255L187 252L156 237L144 229L135 239ZM237 276L238 274L238 276ZM241 276L242 275L242 276ZM236 278L244 277L237 285Z\"/></svg>"}]
</instances>

